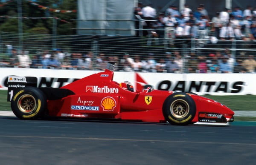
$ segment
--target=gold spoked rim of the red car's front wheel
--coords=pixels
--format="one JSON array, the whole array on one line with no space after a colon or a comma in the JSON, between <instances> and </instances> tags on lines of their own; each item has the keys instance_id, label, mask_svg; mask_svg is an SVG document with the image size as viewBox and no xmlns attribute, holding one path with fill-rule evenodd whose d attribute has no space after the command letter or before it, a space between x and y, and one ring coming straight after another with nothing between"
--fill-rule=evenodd
<instances>
[{"instance_id":1,"label":"gold spoked rim of the red car's front wheel","mask_svg":"<svg viewBox=\"0 0 256 165\"><path fill-rule=\"evenodd\" d=\"M183 118L189 113L189 104L185 100L175 100L170 106L170 111L173 117Z\"/></svg>"}]
</instances>

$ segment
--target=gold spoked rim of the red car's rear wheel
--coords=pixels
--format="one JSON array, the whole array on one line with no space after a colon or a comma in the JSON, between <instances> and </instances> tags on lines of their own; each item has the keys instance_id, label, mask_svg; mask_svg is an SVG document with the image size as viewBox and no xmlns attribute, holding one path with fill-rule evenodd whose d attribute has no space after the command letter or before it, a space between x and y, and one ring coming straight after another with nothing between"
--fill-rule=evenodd
<instances>
[{"instance_id":1,"label":"gold spoked rim of the red car's rear wheel","mask_svg":"<svg viewBox=\"0 0 256 165\"><path fill-rule=\"evenodd\" d=\"M18 108L23 113L30 113L35 110L36 101L35 97L30 94L24 94L18 99Z\"/></svg>"}]
</instances>

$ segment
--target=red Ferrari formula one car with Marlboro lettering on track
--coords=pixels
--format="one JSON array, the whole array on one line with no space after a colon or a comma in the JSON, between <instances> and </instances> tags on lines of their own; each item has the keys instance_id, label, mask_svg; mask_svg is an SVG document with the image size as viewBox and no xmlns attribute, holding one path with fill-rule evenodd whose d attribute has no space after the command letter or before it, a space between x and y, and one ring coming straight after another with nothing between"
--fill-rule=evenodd
<instances>
[{"instance_id":1,"label":"red Ferrari formula one car with Marlboro lettering on track","mask_svg":"<svg viewBox=\"0 0 256 165\"><path fill-rule=\"evenodd\" d=\"M108 118L175 125L233 122L234 112L193 93L137 89L113 81L115 63L61 88L37 88L36 77L8 78L8 101L20 119L43 116Z\"/></svg>"}]
</instances>

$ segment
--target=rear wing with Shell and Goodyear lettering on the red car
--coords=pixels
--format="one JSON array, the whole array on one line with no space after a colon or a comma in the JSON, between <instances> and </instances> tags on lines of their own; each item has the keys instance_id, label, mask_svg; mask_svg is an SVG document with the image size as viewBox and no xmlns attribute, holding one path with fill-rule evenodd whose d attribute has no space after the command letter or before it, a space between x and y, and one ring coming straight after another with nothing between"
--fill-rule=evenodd
<instances>
[{"instance_id":1,"label":"rear wing with Shell and Goodyear lettering on the red car","mask_svg":"<svg viewBox=\"0 0 256 165\"><path fill-rule=\"evenodd\" d=\"M20 88L26 86L37 87L37 77L20 77L20 76L8 76L8 95L7 101L11 101L13 95Z\"/></svg>"}]
</instances>

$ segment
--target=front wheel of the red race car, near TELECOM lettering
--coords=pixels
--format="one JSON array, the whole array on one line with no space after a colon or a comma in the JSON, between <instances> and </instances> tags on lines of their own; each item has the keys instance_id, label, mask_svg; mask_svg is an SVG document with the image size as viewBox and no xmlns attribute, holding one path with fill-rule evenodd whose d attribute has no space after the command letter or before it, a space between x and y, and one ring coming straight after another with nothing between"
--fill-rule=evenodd
<instances>
[{"instance_id":1,"label":"front wheel of the red race car, near TELECOM lettering","mask_svg":"<svg viewBox=\"0 0 256 165\"><path fill-rule=\"evenodd\" d=\"M186 93L177 92L163 103L163 116L173 125L187 125L195 117L195 101Z\"/></svg>"}]
</instances>

